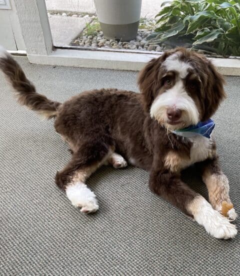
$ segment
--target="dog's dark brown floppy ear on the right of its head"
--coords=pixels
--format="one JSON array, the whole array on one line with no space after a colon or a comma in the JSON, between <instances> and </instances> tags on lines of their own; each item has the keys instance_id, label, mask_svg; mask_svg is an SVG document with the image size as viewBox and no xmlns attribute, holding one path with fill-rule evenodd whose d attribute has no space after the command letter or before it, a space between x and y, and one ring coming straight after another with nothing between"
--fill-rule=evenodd
<instances>
[{"instance_id":1,"label":"dog's dark brown floppy ear on the right of its head","mask_svg":"<svg viewBox=\"0 0 240 276\"><path fill-rule=\"evenodd\" d=\"M209 61L209 75L205 87L204 114L202 120L210 118L218 108L220 102L226 97L223 84L223 76L217 72L215 66Z\"/></svg>"}]
</instances>

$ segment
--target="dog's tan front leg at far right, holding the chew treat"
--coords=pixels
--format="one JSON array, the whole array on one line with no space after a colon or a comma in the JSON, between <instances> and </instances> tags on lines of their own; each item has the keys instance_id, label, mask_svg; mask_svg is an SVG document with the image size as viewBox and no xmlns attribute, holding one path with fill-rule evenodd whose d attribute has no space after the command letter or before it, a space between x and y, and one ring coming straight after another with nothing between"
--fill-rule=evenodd
<instances>
[{"instance_id":1,"label":"dog's tan front leg at far right, holding the chew treat","mask_svg":"<svg viewBox=\"0 0 240 276\"><path fill-rule=\"evenodd\" d=\"M226 175L222 172L218 158L207 159L199 163L202 172L202 180L208 189L208 197L212 207L221 212L222 202L231 203L229 197L229 184ZM236 212L231 208L227 212L230 219L236 219Z\"/></svg>"}]
</instances>

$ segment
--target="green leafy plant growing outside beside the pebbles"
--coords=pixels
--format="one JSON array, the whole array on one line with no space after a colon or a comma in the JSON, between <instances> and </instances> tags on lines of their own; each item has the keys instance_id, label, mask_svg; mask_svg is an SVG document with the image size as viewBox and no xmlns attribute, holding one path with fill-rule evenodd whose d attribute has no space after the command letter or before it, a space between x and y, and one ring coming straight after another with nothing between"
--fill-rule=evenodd
<instances>
[{"instance_id":1,"label":"green leafy plant growing outside beside the pebbles","mask_svg":"<svg viewBox=\"0 0 240 276\"><path fill-rule=\"evenodd\" d=\"M173 0L161 7L150 43L240 56L240 0Z\"/></svg>"}]
</instances>

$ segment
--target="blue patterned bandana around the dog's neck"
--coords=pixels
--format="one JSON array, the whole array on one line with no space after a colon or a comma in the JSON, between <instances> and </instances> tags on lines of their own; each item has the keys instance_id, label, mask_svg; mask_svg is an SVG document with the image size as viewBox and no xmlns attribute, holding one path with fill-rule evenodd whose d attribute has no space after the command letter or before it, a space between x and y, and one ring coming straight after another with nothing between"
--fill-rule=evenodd
<instances>
[{"instance_id":1,"label":"blue patterned bandana around the dog's neck","mask_svg":"<svg viewBox=\"0 0 240 276\"><path fill-rule=\"evenodd\" d=\"M206 138L210 138L210 134L215 126L213 120L208 119L206 121L199 121L196 125L190 125L185 128L173 130L176 135L183 137L192 137L195 135L202 135Z\"/></svg>"}]
</instances>

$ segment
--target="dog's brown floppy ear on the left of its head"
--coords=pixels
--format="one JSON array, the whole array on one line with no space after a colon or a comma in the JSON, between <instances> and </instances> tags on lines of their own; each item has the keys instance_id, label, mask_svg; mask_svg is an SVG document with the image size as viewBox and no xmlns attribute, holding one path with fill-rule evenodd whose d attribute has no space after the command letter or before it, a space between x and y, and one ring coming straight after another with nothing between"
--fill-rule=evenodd
<instances>
[{"instance_id":1,"label":"dog's brown floppy ear on the left of its head","mask_svg":"<svg viewBox=\"0 0 240 276\"><path fill-rule=\"evenodd\" d=\"M147 65L140 71L138 76L138 85L143 95L144 111L149 112L151 103L157 93L159 67L161 57L151 59Z\"/></svg>"}]
</instances>

